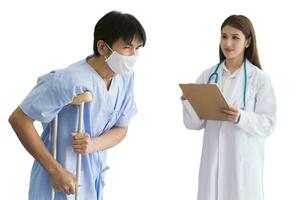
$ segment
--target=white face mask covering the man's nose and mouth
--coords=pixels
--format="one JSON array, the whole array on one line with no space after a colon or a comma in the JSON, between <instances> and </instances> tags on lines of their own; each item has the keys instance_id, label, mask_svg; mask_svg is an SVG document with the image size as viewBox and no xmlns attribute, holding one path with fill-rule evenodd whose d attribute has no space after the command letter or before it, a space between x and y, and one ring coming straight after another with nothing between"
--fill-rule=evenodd
<instances>
[{"instance_id":1,"label":"white face mask covering the man's nose and mouth","mask_svg":"<svg viewBox=\"0 0 300 200\"><path fill-rule=\"evenodd\" d=\"M108 44L106 46L111 50L112 54L106 58L105 62L111 68L111 70L117 74L124 75L132 71L134 64L136 63L137 56L124 56L116 51L113 51Z\"/></svg>"}]
</instances>

